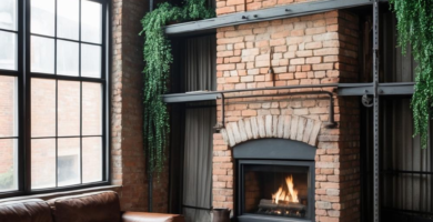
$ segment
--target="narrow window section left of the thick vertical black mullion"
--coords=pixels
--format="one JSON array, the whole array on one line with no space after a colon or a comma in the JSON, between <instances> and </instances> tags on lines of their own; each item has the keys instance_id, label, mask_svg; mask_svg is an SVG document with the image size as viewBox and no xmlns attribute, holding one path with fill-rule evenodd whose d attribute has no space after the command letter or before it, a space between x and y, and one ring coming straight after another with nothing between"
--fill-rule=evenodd
<instances>
[{"instance_id":1,"label":"narrow window section left of the thick vertical black mullion","mask_svg":"<svg viewBox=\"0 0 433 222\"><path fill-rule=\"evenodd\" d=\"M18 190L18 19L16 0L0 3L0 192Z\"/></svg>"}]
</instances>

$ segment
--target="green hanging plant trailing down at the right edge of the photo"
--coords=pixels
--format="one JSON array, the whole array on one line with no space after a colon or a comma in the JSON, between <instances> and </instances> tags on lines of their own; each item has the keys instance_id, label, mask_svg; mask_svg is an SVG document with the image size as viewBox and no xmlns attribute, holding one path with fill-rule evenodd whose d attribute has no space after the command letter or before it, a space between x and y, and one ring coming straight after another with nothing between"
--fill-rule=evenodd
<instances>
[{"instance_id":1,"label":"green hanging plant trailing down at the right edge of the photo","mask_svg":"<svg viewBox=\"0 0 433 222\"><path fill-rule=\"evenodd\" d=\"M433 107L433 1L390 0L397 19L399 47L403 54L407 44L417 62L416 83L412 97L415 134L422 148L429 141L429 122Z\"/></svg>"}]
</instances>

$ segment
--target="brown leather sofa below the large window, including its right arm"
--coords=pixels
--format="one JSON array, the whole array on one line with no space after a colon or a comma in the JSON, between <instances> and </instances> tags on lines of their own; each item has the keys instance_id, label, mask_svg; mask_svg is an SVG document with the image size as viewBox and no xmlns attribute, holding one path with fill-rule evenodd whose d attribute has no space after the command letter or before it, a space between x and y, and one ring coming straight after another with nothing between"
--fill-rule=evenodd
<instances>
[{"instance_id":1,"label":"brown leather sofa below the large window, including its right arm","mask_svg":"<svg viewBox=\"0 0 433 222\"><path fill-rule=\"evenodd\" d=\"M115 192L0 203L0 222L184 222L182 215L121 212Z\"/></svg>"}]
</instances>

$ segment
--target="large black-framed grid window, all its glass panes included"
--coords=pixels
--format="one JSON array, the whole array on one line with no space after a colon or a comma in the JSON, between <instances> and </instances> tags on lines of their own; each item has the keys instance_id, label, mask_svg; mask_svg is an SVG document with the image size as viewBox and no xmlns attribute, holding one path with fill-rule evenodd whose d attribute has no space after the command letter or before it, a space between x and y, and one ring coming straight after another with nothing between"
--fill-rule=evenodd
<instances>
[{"instance_id":1,"label":"large black-framed grid window, all its glass panes included","mask_svg":"<svg viewBox=\"0 0 433 222\"><path fill-rule=\"evenodd\" d=\"M0 1L0 195L107 183L107 4Z\"/></svg>"}]
</instances>

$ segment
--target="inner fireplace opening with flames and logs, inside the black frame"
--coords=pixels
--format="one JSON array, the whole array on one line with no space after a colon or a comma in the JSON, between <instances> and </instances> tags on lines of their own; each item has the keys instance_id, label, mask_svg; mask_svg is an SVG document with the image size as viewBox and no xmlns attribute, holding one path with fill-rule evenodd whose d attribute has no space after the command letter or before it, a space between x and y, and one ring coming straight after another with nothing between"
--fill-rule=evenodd
<instances>
[{"instance_id":1,"label":"inner fireplace opening with flames and logs, inside the black frame","mask_svg":"<svg viewBox=\"0 0 433 222\"><path fill-rule=\"evenodd\" d=\"M245 213L305 218L308 172L305 167L246 165Z\"/></svg>"}]
</instances>

